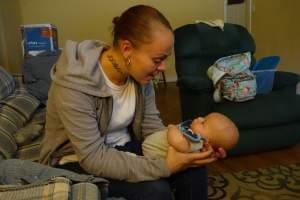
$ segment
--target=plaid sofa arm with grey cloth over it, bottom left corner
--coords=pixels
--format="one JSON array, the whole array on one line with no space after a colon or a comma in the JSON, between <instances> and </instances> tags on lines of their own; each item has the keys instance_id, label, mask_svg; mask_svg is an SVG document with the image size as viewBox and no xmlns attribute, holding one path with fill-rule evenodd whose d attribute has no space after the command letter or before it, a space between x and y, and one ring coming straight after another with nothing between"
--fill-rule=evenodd
<instances>
[{"instance_id":1,"label":"plaid sofa arm with grey cloth over it, bottom left corner","mask_svg":"<svg viewBox=\"0 0 300 200\"><path fill-rule=\"evenodd\" d=\"M107 191L108 181L100 177L27 160L0 162L0 199L102 199L96 184Z\"/></svg>"}]
</instances>

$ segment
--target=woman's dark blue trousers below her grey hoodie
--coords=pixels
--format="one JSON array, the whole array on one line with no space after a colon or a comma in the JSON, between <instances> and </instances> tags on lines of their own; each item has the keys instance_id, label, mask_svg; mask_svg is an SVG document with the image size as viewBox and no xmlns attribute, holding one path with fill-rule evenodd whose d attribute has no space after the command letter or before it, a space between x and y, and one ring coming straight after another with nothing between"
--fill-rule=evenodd
<instances>
[{"instance_id":1,"label":"woman's dark blue trousers below her grey hoodie","mask_svg":"<svg viewBox=\"0 0 300 200\"><path fill-rule=\"evenodd\" d=\"M141 155L140 145L129 142L116 147L120 151L129 151ZM78 163L57 166L77 173L86 172ZM124 197L127 200L203 200L208 196L206 167L195 167L174 174L166 179L130 183L109 180L108 197Z\"/></svg>"}]
</instances>

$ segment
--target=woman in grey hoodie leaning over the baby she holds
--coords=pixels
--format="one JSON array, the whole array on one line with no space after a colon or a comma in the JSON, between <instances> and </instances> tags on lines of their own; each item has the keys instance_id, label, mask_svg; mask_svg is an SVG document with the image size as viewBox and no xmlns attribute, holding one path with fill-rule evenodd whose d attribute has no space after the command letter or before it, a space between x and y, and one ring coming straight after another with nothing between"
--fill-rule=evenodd
<instances>
[{"instance_id":1,"label":"woman in grey hoodie leaning over the baby she holds","mask_svg":"<svg viewBox=\"0 0 300 200\"><path fill-rule=\"evenodd\" d=\"M143 139L165 128L151 80L165 70L173 47L169 22L138 5L113 23L112 46L66 42L52 70L41 162L105 177L109 196L167 200L174 187L177 199L207 198L202 166L225 157L224 150L183 154L170 148L166 159L141 152Z\"/></svg>"}]
</instances>

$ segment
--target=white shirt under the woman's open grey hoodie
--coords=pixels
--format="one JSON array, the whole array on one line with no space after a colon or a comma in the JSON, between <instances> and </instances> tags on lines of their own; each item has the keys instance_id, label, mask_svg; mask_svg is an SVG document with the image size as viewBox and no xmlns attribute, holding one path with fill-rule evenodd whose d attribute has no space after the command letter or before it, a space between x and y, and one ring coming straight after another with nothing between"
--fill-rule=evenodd
<instances>
[{"instance_id":1,"label":"white shirt under the woman's open grey hoodie","mask_svg":"<svg viewBox=\"0 0 300 200\"><path fill-rule=\"evenodd\" d=\"M128 78L124 85L116 85L102 72L108 91L113 96L113 111L105 134L105 144L109 147L121 146L130 141L128 125L133 120L136 104L134 83Z\"/></svg>"}]
</instances>

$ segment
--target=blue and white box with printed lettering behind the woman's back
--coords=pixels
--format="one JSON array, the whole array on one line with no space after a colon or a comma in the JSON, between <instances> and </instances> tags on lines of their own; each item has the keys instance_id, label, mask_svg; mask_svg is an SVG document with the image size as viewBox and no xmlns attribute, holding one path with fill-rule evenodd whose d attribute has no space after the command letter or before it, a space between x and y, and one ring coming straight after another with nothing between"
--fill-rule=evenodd
<instances>
[{"instance_id":1,"label":"blue and white box with printed lettering behind the woman's back","mask_svg":"<svg viewBox=\"0 0 300 200\"><path fill-rule=\"evenodd\" d=\"M21 33L24 55L58 50L57 28L52 24L22 25Z\"/></svg>"}]
</instances>

